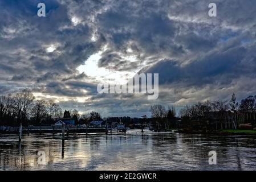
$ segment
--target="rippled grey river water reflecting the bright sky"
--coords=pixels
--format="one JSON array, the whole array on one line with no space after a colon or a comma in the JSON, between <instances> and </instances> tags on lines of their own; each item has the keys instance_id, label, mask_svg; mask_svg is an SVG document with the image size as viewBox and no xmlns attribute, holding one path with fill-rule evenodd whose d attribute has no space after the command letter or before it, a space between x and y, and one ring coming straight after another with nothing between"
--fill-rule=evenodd
<instances>
[{"instance_id":1,"label":"rippled grey river water reflecting the bright sky","mask_svg":"<svg viewBox=\"0 0 256 182\"><path fill-rule=\"evenodd\" d=\"M217 164L209 164L216 151ZM42 155L39 158L38 152ZM44 160L45 158L45 160ZM42 162L46 164L42 164ZM256 135L0 135L0 170L255 170Z\"/></svg>"}]
</instances>

